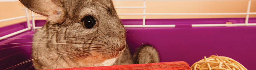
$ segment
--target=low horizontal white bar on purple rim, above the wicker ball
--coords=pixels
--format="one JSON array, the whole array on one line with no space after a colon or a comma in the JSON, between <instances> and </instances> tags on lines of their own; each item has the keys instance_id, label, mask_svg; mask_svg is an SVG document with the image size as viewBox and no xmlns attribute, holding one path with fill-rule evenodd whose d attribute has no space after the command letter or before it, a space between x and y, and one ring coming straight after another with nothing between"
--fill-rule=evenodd
<instances>
[{"instance_id":1,"label":"low horizontal white bar on purple rim, above the wicker ball","mask_svg":"<svg viewBox=\"0 0 256 70\"><path fill-rule=\"evenodd\" d=\"M192 27L210 27L210 26L255 26L256 23L249 24L192 24Z\"/></svg>"}]
</instances>

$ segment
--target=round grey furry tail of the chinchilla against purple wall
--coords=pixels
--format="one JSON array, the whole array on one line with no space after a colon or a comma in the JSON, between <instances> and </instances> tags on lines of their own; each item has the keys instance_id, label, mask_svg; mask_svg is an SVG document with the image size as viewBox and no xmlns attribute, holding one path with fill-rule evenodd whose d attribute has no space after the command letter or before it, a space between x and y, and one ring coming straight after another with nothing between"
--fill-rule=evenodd
<instances>
[{"instance_id":1,"label":"round grey furry tail of the chinchilla against purple wall","mask_svg":"<svg viewBox=\"0 0 256 70\"><path fill-rule=\"evenodd\" d=\"M160 62L158 51L151 45L142 45L133 55L135 64Z\"/></svg>"}]
</instances>

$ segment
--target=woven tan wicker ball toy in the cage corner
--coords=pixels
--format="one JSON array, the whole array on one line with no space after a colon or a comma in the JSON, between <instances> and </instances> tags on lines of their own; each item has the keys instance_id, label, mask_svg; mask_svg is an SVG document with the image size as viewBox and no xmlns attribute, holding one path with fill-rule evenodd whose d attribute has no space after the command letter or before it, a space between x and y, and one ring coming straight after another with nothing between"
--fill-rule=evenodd
<instances>
[{"instance_id":1,"label":"woven tan wicker ball toy in the cage corner","mask_svg":"<svg viewBox=\"0 0 256 70\"><path fill-rule=\"evenodd\" d=\"M194 63L191 70L247 70L242 64L229 57L212 55Z\"/></svg>"}]
</instances>

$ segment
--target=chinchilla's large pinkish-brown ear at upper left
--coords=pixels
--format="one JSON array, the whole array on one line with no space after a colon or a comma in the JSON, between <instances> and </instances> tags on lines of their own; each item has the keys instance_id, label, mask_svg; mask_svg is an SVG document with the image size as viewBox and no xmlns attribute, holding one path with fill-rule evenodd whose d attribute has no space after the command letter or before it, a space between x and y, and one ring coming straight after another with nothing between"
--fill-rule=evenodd
<instances>
[{"instance_id":1,"label":"chinchilla's large pinkish-brown ear at upper left","mask_svg":"<svg viewBox=\"0 0 256 70\"><path fill-rule=\"evenodd\" d=\"M47 20L62 23L61 0L19 0L25 7L40 15L48 17Z\"/></svg>"}]
</instances>

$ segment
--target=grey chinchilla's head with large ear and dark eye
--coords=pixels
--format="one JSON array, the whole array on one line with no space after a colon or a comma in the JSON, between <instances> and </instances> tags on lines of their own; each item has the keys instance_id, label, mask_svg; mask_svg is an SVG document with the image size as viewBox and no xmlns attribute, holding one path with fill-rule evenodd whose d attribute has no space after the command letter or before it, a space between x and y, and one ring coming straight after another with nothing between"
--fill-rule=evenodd
<instances>
[{"instance_id":1,"label":"grey chinchilla's head with large ear and dark eye","mask_svg":"<svg viewBox=\"0 0 256 70\"><path fill-rule=\"evenodd\" d=\"M47 17L46 25L34 38L51 37L51 41L47 42L55 42L57 45L48 45L48 48L58 48L58 51L82 51L80 54L84 55L79 56L80 58L95 57L107 60L118 57L126 47L126 31L112 0L20 2L33 12Z\"/></svg>"}]
</instances>

